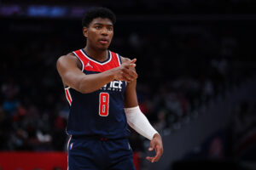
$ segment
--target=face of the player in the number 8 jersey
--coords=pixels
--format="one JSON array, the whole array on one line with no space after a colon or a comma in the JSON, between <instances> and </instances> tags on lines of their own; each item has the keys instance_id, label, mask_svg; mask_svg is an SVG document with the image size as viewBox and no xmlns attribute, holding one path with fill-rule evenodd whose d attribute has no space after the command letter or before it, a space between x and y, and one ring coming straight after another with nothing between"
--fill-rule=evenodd
<instances>
[{"instance_id":1,"label":"face of the player in the number 8 jersey","mask_svg":"<svg viewBox=\"0 0 256 170\"><path fill-rule=\"evenodd\" d=\"M113 37L112 21L107 18L92 20L88 28L84 27L84 37L87 37L87 45L102 50L108 49Z\"/></svg>"}]
</instances>

